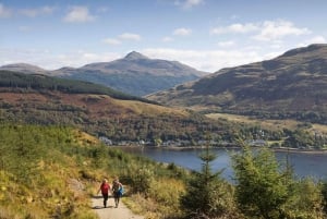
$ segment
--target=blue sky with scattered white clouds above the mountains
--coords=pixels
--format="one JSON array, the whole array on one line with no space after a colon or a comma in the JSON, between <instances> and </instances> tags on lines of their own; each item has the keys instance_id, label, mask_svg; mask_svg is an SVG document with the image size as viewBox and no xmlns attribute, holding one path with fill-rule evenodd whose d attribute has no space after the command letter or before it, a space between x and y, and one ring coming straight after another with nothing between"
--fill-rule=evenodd
<instances>
[{"instance_id":1,"label":"blue sky with scattered white clouds above the mountains","mask_svg":"<svg viewBox=\"0 0 327 219\"><path fill-rule=\"evenodd\" d=\"M0 65L55 70L130 51L215 72L327 42L326 0L0 0Z\"/></svg>"}]
</instances>

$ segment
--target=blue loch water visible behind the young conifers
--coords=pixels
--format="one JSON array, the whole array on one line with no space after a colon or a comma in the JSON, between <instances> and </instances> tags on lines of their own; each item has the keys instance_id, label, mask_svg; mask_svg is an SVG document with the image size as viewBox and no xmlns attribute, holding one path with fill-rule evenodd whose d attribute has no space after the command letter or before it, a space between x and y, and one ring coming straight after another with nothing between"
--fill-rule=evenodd
<instances>
[{"instance_id":1,"label":"blue loch water visible behind the young conifers","mask_svg":"<svg viewBox=\"0 0 327 219\"><path fill-rule=\"evenodd\" d=\"M191 170L201 170L202 160L198 155L203 149L167 149L153 147L132 147L123 150L152 158L159 162L174 163ZM223 169L222 177L229 181L233 179L231 155L239 149L211 149L217 154L217 159L210 165L214 171ZM327 153L303 151L275 151L276 159L280 165L288 162L293 168L296 178L312 177L316 180L327 180Z\"/></svg>"}]
</instances>

